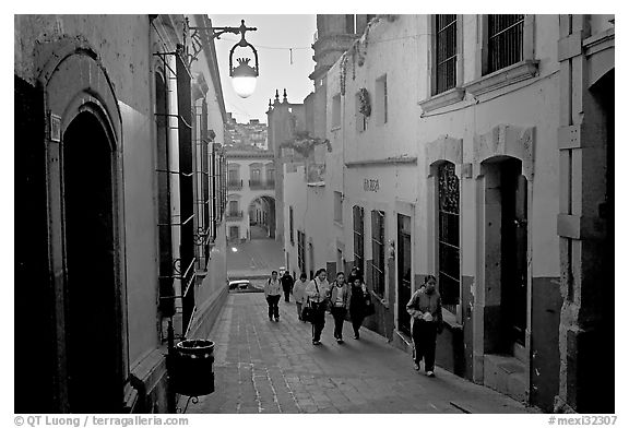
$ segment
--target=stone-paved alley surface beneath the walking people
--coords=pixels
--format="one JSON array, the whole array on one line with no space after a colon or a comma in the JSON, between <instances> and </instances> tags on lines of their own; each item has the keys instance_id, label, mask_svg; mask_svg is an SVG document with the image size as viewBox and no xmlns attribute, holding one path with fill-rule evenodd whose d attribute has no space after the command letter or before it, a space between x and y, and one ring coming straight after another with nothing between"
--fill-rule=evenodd
<instances>
[{"instance_id":1,"label":"stone-paved alley surface beneath the walking people","mask_svg":"<svg viewBox=\"0 0 629 428\"><path fill-rule=\"evenodd\" d=\"M280 322L266 316L262 294L229 295L210 338L215 342L215 388L188 413L526 413L499 394L436 369L413 370L411 357L345 322L342 345L328 316L321 346L297 320L294 302L280 302Z\"/></svg>"}]
</instances>

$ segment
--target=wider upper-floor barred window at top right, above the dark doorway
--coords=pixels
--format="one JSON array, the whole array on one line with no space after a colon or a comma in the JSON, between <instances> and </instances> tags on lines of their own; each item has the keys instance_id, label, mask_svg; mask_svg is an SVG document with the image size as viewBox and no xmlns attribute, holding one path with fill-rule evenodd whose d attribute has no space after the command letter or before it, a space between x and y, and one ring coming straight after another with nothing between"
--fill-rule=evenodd
<instances>
[{"instance_id":1,"label":"wider upper-floor barred window at top right, above the dark doorway","mask_svg":"<svg viewBox=\"0 0 629 428\"><path fill-rule=\"evenodd\" d=\"M524 15L488 15L486 73L522 61L523 40Z\"/></svg>"}]
</instances>

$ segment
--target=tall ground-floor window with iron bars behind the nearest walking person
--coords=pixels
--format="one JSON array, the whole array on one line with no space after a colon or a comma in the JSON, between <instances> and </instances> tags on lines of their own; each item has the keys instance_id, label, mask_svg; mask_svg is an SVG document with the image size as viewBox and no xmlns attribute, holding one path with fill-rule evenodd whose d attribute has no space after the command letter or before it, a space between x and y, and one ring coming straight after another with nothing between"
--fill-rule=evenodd
<instances>
[{"instance_id":1,"label":"tall ground-floor window with iron bars behind the nearest walking person","mask_svg":"<svg viewBox=\"0 0 629 428\"><path fill-rule=\"evenodd\" d=\"M438 173L439 294L443 308L456 313L460 296L459 178L454 164L444 162Z\"/></svg>"}]
</instances>

